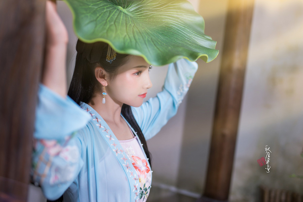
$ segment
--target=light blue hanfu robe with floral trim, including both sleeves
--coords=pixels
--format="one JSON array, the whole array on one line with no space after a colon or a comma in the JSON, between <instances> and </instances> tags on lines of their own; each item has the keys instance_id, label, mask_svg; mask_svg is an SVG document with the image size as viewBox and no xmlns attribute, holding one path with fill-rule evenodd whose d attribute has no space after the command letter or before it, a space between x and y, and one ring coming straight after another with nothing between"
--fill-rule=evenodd
<instances>
[{"instance_id":1,"label":"light blue hanfu robe with floral trim, including both sleeves","mask_svg":"<svg viewBox=\"0 0 303 202\"><path fill-rule=\"evenodd\" d=\"M162 91L131 107L146 140L177 113L197 69L185 58L169 64ZM63 194L64 202L139 200L138 178L131 174L135 168L101 114L88 104L79 106L40 83L33 141L31 176L47 199Z\"/></svg>"}]
</instances>

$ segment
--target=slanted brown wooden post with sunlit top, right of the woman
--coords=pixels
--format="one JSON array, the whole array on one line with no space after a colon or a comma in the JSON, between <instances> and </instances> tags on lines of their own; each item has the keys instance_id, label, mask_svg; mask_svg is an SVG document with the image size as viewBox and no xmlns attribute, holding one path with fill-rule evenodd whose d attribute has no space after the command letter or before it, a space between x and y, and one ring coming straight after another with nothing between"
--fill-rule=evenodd
<instances>
[{"instance_id":1,"label":"slanted brown wooden post with sunlit top, right of the woman","mask_svg":"<svg viewBox=\"0 0 303 202\"><path fill-rule=\"evenodd\" d=\"M253 7L254 0L228 0L208 170L200 202L228 200Z\"/></svg>"}]
</instances>

